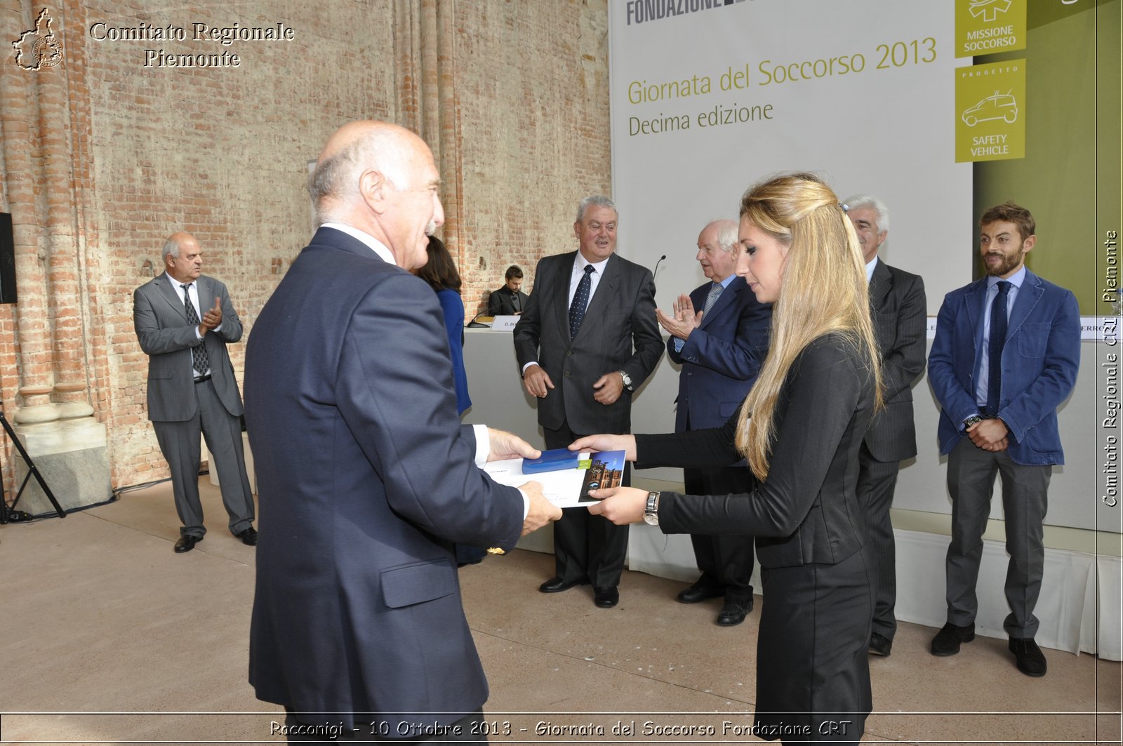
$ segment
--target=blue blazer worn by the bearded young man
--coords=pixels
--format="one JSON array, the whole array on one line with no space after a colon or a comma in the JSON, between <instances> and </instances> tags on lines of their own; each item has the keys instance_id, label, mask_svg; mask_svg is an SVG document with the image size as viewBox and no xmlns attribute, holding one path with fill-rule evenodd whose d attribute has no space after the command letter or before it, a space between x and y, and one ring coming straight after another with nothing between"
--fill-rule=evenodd
<instances>
[{"instance_id":1,"label":"blue blazer worn by the bearded young man","mask_svg":"<svg viewBox=\"0 0 1123 746\"><path fill-rule=\"evenodd\" d=\"M964 437L962 422L979 412L976 354L983 340L986 278L943 298L928 380L940 402L940 453ZM998 417L1010 428L1016 464L1063 464L1057 407L1072 391L1080 365L1080 311L1076 297L1029 270L1010 312L1002 351Z\"/></svg>"}]
</instances>

